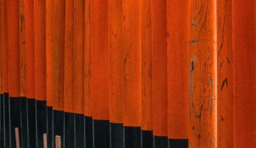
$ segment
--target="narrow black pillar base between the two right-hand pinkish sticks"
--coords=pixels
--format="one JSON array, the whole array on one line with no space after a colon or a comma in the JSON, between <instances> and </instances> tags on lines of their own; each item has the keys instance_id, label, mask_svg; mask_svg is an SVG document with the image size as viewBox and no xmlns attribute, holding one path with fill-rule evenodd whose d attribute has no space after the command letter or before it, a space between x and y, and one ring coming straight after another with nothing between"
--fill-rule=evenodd
<instances>
[{"instance_id":1,"label":"narrow black pillar base between the two right-hand pinkish sticks","mask_svg":"<svg viewBox=\"0 0 256 148\"><path fill-rule=\"evenodd\" d=\"M53 107L47 106L47 145L53 148Z\"/></svg>"}]
</instances>

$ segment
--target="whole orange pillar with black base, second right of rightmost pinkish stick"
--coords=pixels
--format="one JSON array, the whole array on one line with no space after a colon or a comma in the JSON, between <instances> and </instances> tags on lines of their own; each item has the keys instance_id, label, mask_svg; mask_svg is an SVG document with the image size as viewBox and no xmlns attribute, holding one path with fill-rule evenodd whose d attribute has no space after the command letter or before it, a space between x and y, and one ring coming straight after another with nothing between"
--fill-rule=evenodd
<instances>
[{"instance_id":1,"label":"whole orange pillar with black base, second right of rightmost pinkish stick","mask_svg":"<svg viewBox=\"0 0 256 148\"><path fill-rule=\"evenodd\" d=\"M84 147L84 0L74 1L75 147Z\"/></svg>"}]
</instances>

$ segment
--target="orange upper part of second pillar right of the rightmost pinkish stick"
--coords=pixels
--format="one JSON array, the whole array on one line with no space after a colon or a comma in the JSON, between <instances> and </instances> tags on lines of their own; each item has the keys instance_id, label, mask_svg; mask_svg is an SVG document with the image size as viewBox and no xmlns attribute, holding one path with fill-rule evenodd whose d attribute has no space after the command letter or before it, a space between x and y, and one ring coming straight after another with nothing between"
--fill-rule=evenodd
<instances>
[{"instance_id":1,"label":"orange upper part of second pillar right of the rightmost pinkish stick","mask_svg":"<svg viewBox=\"0 0 256 148\"><path fill-rule=\"evenodd\" d=\"M74 1L74 112L84 114L84 0Z\"/></svg>"}]
</instances>

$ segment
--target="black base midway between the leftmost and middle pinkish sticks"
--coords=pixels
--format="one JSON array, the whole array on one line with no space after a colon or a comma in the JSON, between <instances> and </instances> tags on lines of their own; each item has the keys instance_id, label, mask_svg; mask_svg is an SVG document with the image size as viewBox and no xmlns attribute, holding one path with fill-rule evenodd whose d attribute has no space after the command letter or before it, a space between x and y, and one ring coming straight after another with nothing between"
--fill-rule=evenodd
<instances>
[{"instance_id":1,"label":"black base midway between the leftmost and middle pinkish sticks","mask_svg":"<svg viewBox=\"0 0 256 148\"><path fill-rule=\"evenodd\" d=\"M28 99L28 144L36 147L36 100Z\"/></svg>"}]
</instances>

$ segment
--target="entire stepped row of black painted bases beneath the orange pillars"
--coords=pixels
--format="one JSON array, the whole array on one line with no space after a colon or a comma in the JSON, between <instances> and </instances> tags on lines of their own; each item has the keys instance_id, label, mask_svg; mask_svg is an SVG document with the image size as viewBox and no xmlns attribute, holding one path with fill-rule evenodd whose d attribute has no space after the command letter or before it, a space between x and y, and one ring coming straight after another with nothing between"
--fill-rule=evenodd
<instances>
[{"instance_id":1,"label":"entire stepped row of black painted bases beneath the orange pillars","mask_svg":"<svg viewBox=\"0 0 256 148\"><path fill-rule=\"evenodd\" d=\"M9 98L0 94L0 148L15 147L15 127L19 128L21 147L55 147L61 136L62 147L169 147L187 148L188 139L154 137L152 131L123 126L108 120L93 120L84 114L53 110L45 101Z\"/></svg>"}]
</instances>

